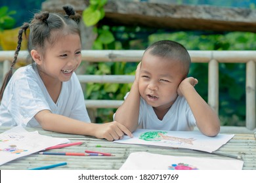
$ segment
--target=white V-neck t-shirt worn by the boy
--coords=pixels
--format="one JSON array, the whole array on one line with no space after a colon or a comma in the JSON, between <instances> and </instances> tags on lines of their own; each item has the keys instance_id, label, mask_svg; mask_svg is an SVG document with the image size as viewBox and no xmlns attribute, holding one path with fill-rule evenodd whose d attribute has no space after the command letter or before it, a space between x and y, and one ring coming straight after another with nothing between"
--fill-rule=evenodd
<instances>
[{"instance_id":1,"label":"white V-neck t-shirt worn by the boy","mask_svg":"<svg viewBox=\"0 0 256 183\"><path fill-rule=\"evenodd\" d=\"M129 93L127 93L128 95ZM125 95L125 99L127 97ZM159 120L152 106L140 97L140 112L138 128L161 129L167 131L192 131L196 119L184 97L178 96L168 112Z\"/></svg>"}]
</instances>

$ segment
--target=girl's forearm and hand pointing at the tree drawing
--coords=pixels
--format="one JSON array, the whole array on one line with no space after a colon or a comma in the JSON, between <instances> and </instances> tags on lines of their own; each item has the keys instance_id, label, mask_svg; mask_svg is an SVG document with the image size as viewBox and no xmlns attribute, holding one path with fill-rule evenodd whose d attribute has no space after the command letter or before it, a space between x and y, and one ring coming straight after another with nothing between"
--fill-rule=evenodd
<instances>
[{"instance_id":1,"label":"girl's forearm and hand pointing at the tree drawing","mask_svg":"<svg viewBox=\"0 0 256 183\"><path fill-rule=\"evenodd\" d=\"M35 114L35 119L43 129L60 133L90 135L108 141L122 139L126 134L132 137L131 132L122 124L110 122L106 124L91 124L74 120L66 116L53 114L49 110L41 110Z\"/></svg>"}]
</instances>

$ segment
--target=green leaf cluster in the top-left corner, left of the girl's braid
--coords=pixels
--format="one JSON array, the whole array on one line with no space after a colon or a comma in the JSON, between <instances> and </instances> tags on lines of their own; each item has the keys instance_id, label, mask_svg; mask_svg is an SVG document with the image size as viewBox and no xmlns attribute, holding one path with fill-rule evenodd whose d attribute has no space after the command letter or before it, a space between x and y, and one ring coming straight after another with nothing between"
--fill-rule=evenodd
<instances>
[{"instance_id":1,"label":"green leaf cluster in the top-left corner, left of the girl's braid","mask_svg":"<svg viewBox=\"0 0 256 183\"><path fill-rule=\"evenodd\" d=\"M0 31L11 29L16 21L11 15L16 14L16 11L9 11L8 7L0 7Z\"/></svg>"}]
</instances>

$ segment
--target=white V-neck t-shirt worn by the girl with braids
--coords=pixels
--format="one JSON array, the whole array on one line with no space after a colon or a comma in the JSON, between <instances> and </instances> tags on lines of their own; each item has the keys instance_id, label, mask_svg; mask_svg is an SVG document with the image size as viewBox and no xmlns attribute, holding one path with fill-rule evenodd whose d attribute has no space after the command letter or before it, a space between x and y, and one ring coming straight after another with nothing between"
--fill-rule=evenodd
<instances>
[{"instance_id":1,"label":"white V-neck t-shirt worn by the girl with braids","mask_svg":"<svg viewBox=\"0 0 256 183\"><path fill-rule=\"evenodd\" d=\"M91 122L85 107L81 84L75 73L62 82L58 101L54 103L41 80L36 66L21 67L12 75L0 105L0 125L41 127L33 118L41 110L51 110L83 122Z\"/></svg>"}]
</instances>

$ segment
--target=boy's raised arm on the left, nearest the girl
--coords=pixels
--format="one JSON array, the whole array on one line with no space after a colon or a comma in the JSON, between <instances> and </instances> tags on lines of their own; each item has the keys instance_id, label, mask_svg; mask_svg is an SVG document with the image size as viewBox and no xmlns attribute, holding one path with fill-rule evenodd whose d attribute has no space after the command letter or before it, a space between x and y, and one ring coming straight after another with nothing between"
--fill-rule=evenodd
<instances>
[{"instance_id":1,"label":"boy's raised arm on the left, nearest the girl","mask_svg":"<svg viewBox=\"0 0 256 183\"><path fill-rule=\"evenodd\" d=\"M123 104L117 108L115 119L120 124L125 125L129 131L133 132L137 129L138 120L139 120L139 110L140 110L140 93L139 93L139 70L140 63L136 69L135 81L133 82L133 86L131 86L131 90L129 95L123 101Z\"/></svg>"}]
</instances>

